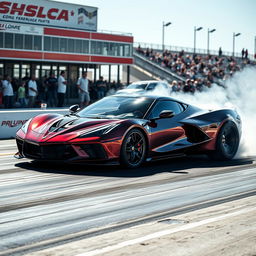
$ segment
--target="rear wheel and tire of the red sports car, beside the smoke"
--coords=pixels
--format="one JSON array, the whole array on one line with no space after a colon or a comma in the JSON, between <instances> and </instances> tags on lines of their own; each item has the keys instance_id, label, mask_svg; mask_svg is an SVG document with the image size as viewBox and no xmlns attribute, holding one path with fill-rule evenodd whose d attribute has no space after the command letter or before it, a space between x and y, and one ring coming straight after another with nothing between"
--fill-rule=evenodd
<instances>
[{"instance_id":1,"label":"rear wheel and tire of the red sports car, beside the smoke","mask_svg":"<svg viewBox=\"0 0 256 256\"><path fill-rule=\"evenodd\" d=\"M216 141L216 150L208 154L213 160L232 159L239 146L239 132L233 122L225 123L218 134Z\"/></svg>"}]
</instances>

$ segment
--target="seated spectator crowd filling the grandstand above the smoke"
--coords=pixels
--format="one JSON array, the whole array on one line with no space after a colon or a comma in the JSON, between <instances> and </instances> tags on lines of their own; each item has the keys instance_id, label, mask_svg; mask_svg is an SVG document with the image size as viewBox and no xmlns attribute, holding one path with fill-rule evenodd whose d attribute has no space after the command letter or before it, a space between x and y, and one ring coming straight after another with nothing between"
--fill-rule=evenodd
<instances>
[{"instance_id":1,"label":"seated spectator crowd filling the grandstand above the smoke","mask_svg":"<svg viewBox=\"0 0 256 256\"><path fill-rule=\"evenodd\" d=\"M224 81L235 72L247 65L256 65L248 59L248 50L242 50L241 58L223 56L221 48L218 56L186 54L180 52L155 51L153 49L137 48L137 53L148 60L169 69L180 76L180 81L172 82L173 91L195 92L211 87L213 83L224 86Z\"/></svg>"}]
</instances>

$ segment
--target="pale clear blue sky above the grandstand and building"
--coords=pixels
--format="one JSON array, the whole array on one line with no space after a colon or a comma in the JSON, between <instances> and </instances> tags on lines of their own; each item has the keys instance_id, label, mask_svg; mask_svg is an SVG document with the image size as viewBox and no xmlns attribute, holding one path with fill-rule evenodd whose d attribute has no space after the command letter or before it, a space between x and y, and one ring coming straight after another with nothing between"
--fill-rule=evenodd
<instances>
[{"instance_id":1,"label":"pale clear blue sky above the grandstand and building","mask_svg":"<svg viewBox=\"0 0 256 256\"><path fill-rule=\"evenodd\" d=\"M98 30L129 32L134 42L162 44L162 24L165 28L165 44L194 47L194 27L197 32L196 47L207 49L207 30L210 49L232 52L233 33L235 50L248 49L254 54L256 37L256 0L61 0L98 7Z\"/></svg>"}]
</instances>

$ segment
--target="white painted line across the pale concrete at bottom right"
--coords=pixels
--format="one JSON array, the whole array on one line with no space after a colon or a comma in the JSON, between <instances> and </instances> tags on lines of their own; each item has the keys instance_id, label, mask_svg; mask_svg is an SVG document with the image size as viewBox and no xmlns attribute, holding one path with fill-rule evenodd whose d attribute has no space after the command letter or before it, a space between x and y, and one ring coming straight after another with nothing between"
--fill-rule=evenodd
<instances>
[{"instance_id":1,"label":"white painted line across the pale concrete at bottom right","mask_svg":"<svg viewBox=\"0 0 256 256\"><path fill-rule=\"evenodd\" d=\"M207 225L207 224L212 223L212 222L224 220L224 219L227 219L227 218L230 218L230 217L238 216L240 214L249 213L249 212L252 212L252 211L255 211L255 210L256 210L256 207L239 210L239 211L236 211L236 212L233 212L233 213L228 213L228 214L225 214L225 215L221 215L221 216L201 220L201 221L198 221L198 222L185 224L181 227L177 227L177 228L173 228L173 229L167 229L167 230L163 230L163 231L160 231L160 232L152 233L150 235L146 235L146 236L139 237L139 238L132 239L132 240L128 240L128 241L124 241L124 242L121 242L121 243L118 243L118 244L115 244L115 245L111 245L111 246L107 246L107 247L104 247L104 248L101 248L101 249L96 249L96 250L93 250L93 251L77 254L76 256L95 256L95 255L99 255L99 254L104 254L104 253L107 253L107 252L111 252L111 251L114 251L114 250L121 249L121 248L126 247L126 246L139 244L139 243L145 242L147 240L160 238L162 236L170 235L170 234L173 234L173 233L176 233L176 232L185 231L185 230L188 230L188 229L193 229L193 228L196 228L196 227Z\"/></svg>"}]
</instances>

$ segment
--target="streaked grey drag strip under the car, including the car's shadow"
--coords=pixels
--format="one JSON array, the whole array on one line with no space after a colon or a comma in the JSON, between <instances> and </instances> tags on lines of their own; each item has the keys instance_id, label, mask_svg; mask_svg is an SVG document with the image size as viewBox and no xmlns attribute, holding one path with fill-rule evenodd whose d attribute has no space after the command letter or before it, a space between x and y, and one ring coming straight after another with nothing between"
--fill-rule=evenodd
<instances>
[{"instance_id":1,"label":"streaked grey drag strip under the car, including the car's shadow","mask_svg":"<svg viewBox=\"0 0 256 256\"><path fill-rule=\"evenodd\" d=\"M0 255L22 255L256 193L255 157L187 157L129 170L38 164L14 153L14 140L0 141Z\"/></svg>"}]
</instances>

